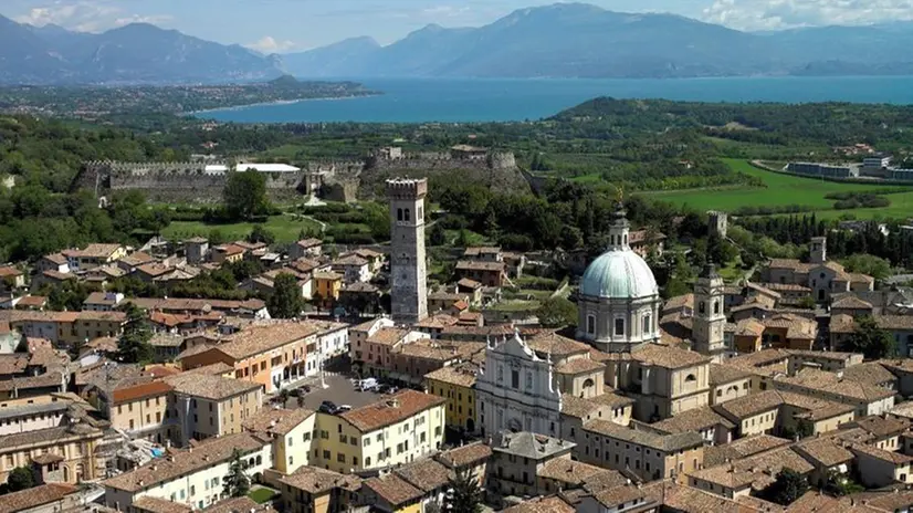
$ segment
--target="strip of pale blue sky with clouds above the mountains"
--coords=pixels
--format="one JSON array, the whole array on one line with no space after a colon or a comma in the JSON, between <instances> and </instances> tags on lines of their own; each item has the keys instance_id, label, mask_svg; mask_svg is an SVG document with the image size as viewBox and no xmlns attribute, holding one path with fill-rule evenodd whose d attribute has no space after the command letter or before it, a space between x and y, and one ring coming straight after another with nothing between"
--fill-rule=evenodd
<instances>
[{"instance_id":1,"label":"strip of pale blue sky with clouds above the mountains","mask_svg":"<svg viewBox=\"0 0 913 513\"><path fill-rule=\"evenodd\" d=\"M99 32L137 21L263 52L371 35L388 44L428 23L478 27L555 0L2 0L0 14ZM589 0L628 12L673 12L742 30L913 20L913 0Z\"/></svg>"}]
</instances>

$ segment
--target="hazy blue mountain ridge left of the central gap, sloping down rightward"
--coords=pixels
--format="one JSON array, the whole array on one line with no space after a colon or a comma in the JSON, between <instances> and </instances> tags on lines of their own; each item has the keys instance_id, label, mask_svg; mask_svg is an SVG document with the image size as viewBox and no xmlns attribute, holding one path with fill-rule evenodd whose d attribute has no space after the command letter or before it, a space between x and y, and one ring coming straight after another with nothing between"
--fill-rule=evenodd
<instances>
[{"instance_id":1,"label":"hazy blue mountain ridge left of the central gap, sloping down rightward","mask_svg":"<svg viewBox=\"0 0 913 513\"><path fill-rule=\"evenodd\" d=\"M3 83L218 83L282 74L272 55L147 23L88 34L0 17Z\"/></svg>"}]
</instances>

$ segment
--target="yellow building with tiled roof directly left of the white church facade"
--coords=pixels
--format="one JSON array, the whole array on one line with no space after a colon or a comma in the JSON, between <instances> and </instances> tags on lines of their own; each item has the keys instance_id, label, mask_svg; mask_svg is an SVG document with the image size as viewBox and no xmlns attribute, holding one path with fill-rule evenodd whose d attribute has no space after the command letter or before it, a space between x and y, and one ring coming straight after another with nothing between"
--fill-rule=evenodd
<instances>
[{"instance_id":1,"label":"yellow building with tiled roof directly left of the white church facade","mask_svg":"<svg viewBox=\"0 0 913 513\"><path fill-rule=\"evenodd\" d=\"M447 399L447 427L475 431L475 371L473 364L448 366L424 375L426 390Z\"/></svg>"}]
</instances>

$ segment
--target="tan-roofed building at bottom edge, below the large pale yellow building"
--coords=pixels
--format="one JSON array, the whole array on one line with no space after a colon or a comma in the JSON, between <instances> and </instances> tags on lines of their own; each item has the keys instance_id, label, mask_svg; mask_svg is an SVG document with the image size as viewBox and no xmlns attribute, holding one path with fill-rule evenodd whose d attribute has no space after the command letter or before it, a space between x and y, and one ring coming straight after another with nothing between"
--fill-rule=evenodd
<instances>
[{"instance_id":1,"label":"tan-roofed building at bottom edge, below the large pale yellow building","mask_svg":"<svg viewBox=\"0 0 913 513\"><path fill-rule=\"evenodd\" d=\"M355 502L361 479L315 467L301 467L279 479L284 511L290 513L334 513L347 511Z\"/></svg>"}]
</instances>

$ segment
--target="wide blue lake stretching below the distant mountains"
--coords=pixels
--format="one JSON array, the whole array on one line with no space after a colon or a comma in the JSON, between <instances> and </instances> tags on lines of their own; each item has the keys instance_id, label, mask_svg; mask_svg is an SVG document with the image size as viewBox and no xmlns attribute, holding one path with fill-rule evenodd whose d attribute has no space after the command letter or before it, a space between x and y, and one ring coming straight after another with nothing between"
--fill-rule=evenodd
<instances>
[{"instance_id":1,"label":"wide blue lake stretching below the distant mountains","mask_svg":"<svg viewBox=\"0 0 913 513\"><path fill-rule=\"evenodd\" d=\"M255 105L199 116L238 123L510 122L547 117L597 96L701 102L913 104L913 76L347 80L384 94Z\"/></svg>"}]
</instances>

